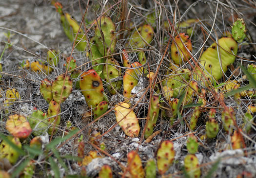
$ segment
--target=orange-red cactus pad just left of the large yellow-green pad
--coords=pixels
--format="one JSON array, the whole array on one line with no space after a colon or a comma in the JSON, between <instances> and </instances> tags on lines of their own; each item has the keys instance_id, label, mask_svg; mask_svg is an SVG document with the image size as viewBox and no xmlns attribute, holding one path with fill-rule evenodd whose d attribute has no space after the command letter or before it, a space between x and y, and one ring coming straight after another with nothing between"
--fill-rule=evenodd
<instances>
[{"instance_id":1,"label":"orange-red cactus pad just left of the large yellow-green pad","mask_svg":"<svg viewBox=\"0 0 256 178\"><path fill-rule=\"evenodd\" d=\"M185 35L185 33L180 33L179 36L175 36L175 41L173 41L171 45L171 55L174 63L179 65L186 62L190 59L189 52L192 52L192 43L189 36Z\"/></svg>"}]
</instances>

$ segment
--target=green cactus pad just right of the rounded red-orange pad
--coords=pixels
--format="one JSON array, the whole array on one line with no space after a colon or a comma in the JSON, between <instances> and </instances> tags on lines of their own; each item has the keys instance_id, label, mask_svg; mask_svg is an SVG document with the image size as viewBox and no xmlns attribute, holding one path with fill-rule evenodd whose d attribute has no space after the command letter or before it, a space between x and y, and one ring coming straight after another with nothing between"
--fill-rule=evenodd
<instances>
[{"instance_id":1,"label":"green cactus pad just right of the rounded red-orange pad","mask_svg":"<svg viewBox=\"0 0 256 178\"><path fill-rule=\"evenodd\" d=\"M39 136L47 132L48 125L46 124L46 118L46 113L44 113L42 110L37 110L36 108L31 116L28 117L28 122L33 129L33 135Z\"/></svg>"}]
</instances>

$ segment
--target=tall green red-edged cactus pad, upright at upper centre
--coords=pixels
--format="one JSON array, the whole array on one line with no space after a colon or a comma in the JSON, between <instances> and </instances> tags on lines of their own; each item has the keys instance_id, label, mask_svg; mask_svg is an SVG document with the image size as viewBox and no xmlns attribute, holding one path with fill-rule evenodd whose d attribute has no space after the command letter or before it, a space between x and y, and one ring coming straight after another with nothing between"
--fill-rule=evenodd
<instances>
[{"instance_id":1,"label":"tall green red-edged cactus pad, upright at upper centre","mask_svg":"<svg viewBox=\"0 0 256 178\"><path fill-rule=\"evenodd\" d=\"M115 32L116 26L111 18L101 16L98 18L98 22L95 22L95 40L98 45L98 51L103 56L115 52L115 47L117 43L117 36ZM103 36L101 33L103 33Z\"/></svg>"}]
</instances>

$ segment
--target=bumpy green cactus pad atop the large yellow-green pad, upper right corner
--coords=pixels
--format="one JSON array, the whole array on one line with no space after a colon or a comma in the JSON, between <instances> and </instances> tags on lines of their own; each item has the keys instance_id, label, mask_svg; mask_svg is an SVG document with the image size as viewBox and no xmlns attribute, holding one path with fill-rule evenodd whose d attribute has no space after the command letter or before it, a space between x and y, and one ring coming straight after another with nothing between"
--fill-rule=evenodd
<instances>
[{"instance_id":1,"label":"bumpy green cactus pad atop the large yellow-green pad, upper right corner","mask_svg":"<svg viewBox=\"0 0 256 178\"><path fill-rule=\"evenodd\" d=\"M232 27L232 36L238 42L242 42L245 38L245 23L242 18L237 18Z\"/></svg>"}]
</instances>

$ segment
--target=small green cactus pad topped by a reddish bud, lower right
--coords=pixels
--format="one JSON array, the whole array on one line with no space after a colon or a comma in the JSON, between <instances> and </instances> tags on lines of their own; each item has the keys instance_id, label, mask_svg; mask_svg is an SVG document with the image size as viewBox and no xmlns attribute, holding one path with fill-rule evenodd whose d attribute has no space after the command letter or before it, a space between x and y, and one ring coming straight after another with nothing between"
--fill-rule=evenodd
<instances>
[{"instance_id":1,"label":"small green cactus pad topped by a reddish bud, lower right","mask_svg":"<svg viewBox=\"0 0 256 178\"><path fill-rule=\"evenodd\" d=\"M206 136L209 139L213 139L217 136L218 134L218 123L215 120L215 109L211 109L209 112L209 120L206 122Z\"/></svg>"}]
</instances>

